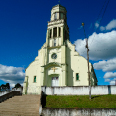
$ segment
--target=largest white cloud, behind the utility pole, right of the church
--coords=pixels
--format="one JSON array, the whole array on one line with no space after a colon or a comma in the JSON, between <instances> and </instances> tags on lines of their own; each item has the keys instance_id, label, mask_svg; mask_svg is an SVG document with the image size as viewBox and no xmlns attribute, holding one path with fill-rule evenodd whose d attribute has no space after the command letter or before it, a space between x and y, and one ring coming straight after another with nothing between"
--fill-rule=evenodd
<instances>
[{"instance_id":1,"label":"largest white cloud, behind the utility pole, right of the church","mask_svg":"<svg viewBox=\"0 0 116 116\"><path fill-rule=\"evenodd\" d=\"M74 44L76 45L76 51L87 58L85 39L77 39ZM88 46L90 60L108 60L116 57L116 31L99 34L94 32L88 38Z\"/></svg>"}]
</instances>

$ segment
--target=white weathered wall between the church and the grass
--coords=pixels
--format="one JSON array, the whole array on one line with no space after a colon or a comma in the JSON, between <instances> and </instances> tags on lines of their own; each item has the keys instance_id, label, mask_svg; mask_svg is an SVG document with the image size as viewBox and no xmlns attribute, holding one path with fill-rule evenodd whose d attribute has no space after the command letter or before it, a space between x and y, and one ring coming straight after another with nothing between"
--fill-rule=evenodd
<instances>
[{"instance_id":1,"label":"white weathered wall between the church and the grass","mask_svg":"<svg viewBox=\"0 0 116 116\"><path fill-rule=\"evenodd\" d=\"M47 95L89 95L89 86L75 86L75 87L45 87L41 90ZM116 94L116 86L92 86L91 95L105 95Z\"/></svg>"}]
</instances>

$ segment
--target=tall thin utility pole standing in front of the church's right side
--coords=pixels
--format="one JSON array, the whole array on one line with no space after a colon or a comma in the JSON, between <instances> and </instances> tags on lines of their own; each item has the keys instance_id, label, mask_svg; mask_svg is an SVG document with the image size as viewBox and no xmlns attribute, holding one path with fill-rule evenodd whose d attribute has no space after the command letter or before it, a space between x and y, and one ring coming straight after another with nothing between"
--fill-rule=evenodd
<instances>
[{"instance_id":1,"label":"tall thin utility pole standing in front of the church's right side","mask_svg":"<svg viewBox=\"0 0 116 116\"><path fill-rule=\"evenodd\" d=\"M83 29L84 29L84 23L82 23ZM84 29L85 34L85 29ZM86 34L85 34L86 38ZM90 81L90 72L89 72L89 48L88 48L88 39L86 38L86 46L87 48L87 63L88 63L88 78L89 78L89 99L91 100L91 81Z\"/></svg>"}]
</instances>

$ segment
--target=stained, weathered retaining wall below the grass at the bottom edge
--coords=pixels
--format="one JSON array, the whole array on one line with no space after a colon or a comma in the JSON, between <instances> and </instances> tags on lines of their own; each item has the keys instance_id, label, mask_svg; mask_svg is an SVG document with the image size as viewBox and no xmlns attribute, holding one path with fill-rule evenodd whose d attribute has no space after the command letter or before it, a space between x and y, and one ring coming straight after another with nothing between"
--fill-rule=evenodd
<instances>
[{"instance_id":1,"label":"stained, weathered retaining wall below the grass at the bottom edge","mask_svg":"<svg viewBox=\"0 0 116 116\"><path fill-rule=\"evenodd\" d=\"M43 108L42 116L116 116L114 108Z\"/></svg>"}]
</instances>

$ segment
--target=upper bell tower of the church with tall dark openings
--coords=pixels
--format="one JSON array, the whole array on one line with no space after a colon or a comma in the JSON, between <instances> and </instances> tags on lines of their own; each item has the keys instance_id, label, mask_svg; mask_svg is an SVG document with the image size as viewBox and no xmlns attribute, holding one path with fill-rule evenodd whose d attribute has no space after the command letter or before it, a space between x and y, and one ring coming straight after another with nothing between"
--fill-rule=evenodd
<instances>
[{"instance_id":1,"label":"upper bell tower of the church with tall dark openings","mask_svg":"<svg viewBox=\"0 0 116 116\"><path fill-rule=\"evenodd\" d=\"M65 45L65 41L69 39L66 13L66 8L60 4L52 7L51 18L47 25L46 47Z\"/></svg>"}]
</instances>

